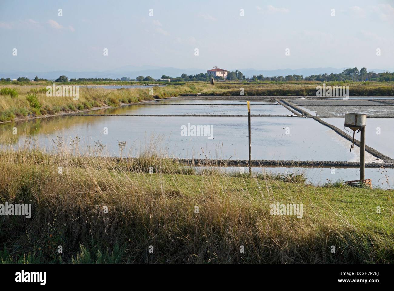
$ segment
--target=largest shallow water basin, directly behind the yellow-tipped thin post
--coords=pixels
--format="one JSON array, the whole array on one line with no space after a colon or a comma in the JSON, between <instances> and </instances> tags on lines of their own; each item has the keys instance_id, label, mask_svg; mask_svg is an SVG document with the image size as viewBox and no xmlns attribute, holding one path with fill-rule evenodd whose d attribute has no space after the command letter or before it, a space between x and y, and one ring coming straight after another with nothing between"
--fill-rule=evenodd
<instances>
[{"instance_id":1,"label":"largest shallow water basin, directly behind the yellow-tipped thin post","mask_svg":"<svg viewBox=\"0 0 394 291\"><path fill-rule=\"evenodd\" d=\"M359 148L349 152L349 142L309 118L255 117L252 125L252 158L267 160L359 160ZM213 139L182 136L182 125L212 125ZM18 134L13 135L13 127ZM105 134L105 130L108 134ZM100 141L109 155L119 155L118 141L126 150L145 147L151 136L160 137L157 151L179 158L248 159L247 117L129 117L58 116L0 126L0 142L22 144L32 134L41 147L50 147L57 136L82 138L87 148ZM154 140L152 142L155 142ZM366 162L376 159L366 153Z\"/></svg>"}]
</instances>

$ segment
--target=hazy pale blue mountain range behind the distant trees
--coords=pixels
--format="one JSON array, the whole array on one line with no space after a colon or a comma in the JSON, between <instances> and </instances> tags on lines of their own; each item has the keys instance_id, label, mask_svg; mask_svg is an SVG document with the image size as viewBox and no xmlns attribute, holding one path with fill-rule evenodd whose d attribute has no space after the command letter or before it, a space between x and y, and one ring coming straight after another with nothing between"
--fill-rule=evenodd
<instances>
[{"instance_id":1,"label":"hazy pale blue mountain range behind the distant trees","mask_svg":"<svg viewBox=\"0 0 394 291\"><path fill-rule=\"evenodd\" d=\"M156 66L132 66L126 65L123 67L119 67L116 69L108 70L108 71L82 71L82 72L74 72L74 71L50 71L50 72L37 72L37 71L1 71L0 78L11 78L16 79L18 77L28 77L33 79L35 76L39 78L44 78L48 80L54 80L59 76L65 75L68 78L121 78L121 77L129 77L131 79L135 79L137 76L151 76L152 78L159 79L162 75L167 75L171 77L178 77L181 74L185 73L187 75L195 75L199 73L206 73L206 69L178 69L173 67L156 67ZM233 68L221 67L221 69L226 69L229 71L235 71ZM280 70L259 70L259 69L238 69L243 73L243 75L247 77L251 77L253 75L260 75L266 77L272 76L287 76L287 75L302 75L302 76L310 76L310 75L318 75L318 74L331 74L331 73L342 73L342 71L346 68L303 68L303 69L280 69ZM359 67L361 69L361 67ZM386 71L393 72L394 69L368 69L368 71L374 71L375 73L383 73Z\"/></svg>"}]
</instances>

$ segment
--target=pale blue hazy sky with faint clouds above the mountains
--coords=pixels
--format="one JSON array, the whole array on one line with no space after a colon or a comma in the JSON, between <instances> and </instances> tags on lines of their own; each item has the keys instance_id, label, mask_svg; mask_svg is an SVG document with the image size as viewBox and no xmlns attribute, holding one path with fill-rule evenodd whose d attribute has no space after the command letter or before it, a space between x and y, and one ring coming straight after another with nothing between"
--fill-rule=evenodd
<instances>
[{"instance_id":1,"label":"pale blue hazy sky with faint clouds above the mountains","mask_svg":"<svg viewBox=\"0 0 394 291\"><path fill-rule=\"evenodd\" d=\"M125 65L394 69L394 0L0 0L0 71Z\"/></svg>"}]
</instances>

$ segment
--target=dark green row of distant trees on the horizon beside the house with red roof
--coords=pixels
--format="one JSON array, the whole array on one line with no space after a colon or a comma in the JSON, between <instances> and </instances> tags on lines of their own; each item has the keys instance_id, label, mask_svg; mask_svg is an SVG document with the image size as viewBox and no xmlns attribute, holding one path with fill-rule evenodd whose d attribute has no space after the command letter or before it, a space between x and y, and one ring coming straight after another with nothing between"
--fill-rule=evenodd
<instances>
[{"instance_id":1,"label":"dark green row of distant trees on the horizon beside the house with red roof","mask_svg":"<svg viewBox=\"0 0 394 291\"><path fill-rule=\"evenodd\" d=\"M191 81L206 81L208 82L212 78L208 73L200 73L196 75L187 75L182 74L179 77L170 77L167 75L162 75L162 78L155 79L151 76L138 76L135 79L131 79L129 77L122 78L68 78L67 76L59 76L55 80L55 82L63 83L63 82L156 82L160 80L169 80L169 82L191 82ZM215 76L216 80L223 80L221 76ZM273 82L288 82L288 81L320 81L320 82L329 82L329 81L377 81L377 82L389 82L394 81L394 72L385 72L385 73L375 73L374 71L367 71L365 67L360 70L355 68L349 68L342 71L342 73L331 73L331 74L319 74L319 75L311 75L306 76L305 78L302 75L288 75L288 76L272 76L272 77L264 77L263 75L253 75L250 78L247 78L241 71L229 71L227 74L227 80L255 80L255 81L273 81ZM34 81L48 81L47 79L40 79L38 76L35 76ZM11 82L10 78L1 78L0 82ZM18 82L30 82L29 78L19 77L17 78Z\"/></svg>"}]
</instances>

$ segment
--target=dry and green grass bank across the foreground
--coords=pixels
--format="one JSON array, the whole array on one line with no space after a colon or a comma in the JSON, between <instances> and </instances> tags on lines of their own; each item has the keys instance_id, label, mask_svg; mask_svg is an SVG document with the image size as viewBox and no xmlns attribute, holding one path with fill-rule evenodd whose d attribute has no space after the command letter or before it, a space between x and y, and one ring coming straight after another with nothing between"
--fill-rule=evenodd
<instances>
[{"instance_id":1,"label":"dry and green grass bank across the foreground","mask_svg":"<svg viewBox=\"0 0 394 291\"><path fill-rule=\"evenodd\" d=\"M394 259L392 191L319 188L264 174L197 174L149 151L137 159L112 159L82 155L76 146L3 149L0 173L1 203L32 203L33 209L30 219L1 217L3 262ZM269 205L277 201L302 203L303 218L270 215ZM375 205L384 209L380 216Z\"/></svg>"}]
</instances>

